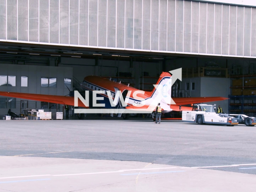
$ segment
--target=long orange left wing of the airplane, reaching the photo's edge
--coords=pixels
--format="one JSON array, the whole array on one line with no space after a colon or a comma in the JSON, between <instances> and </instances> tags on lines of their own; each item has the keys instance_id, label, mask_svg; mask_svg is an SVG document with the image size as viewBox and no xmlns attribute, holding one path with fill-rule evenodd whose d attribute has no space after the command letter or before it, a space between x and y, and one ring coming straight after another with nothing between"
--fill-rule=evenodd
<instances>
[{"instance_id":1,"label":"long orange left wing of the airplane, reaching the photo's edge","mask_svg":"<svg viewBox=\"0 0 256 192\"><path fill-rule=\"evenodd\" d=\"M14 93L14 92L1 92L0 95L35 101L44 101L56 104L71 105L74 106L74 97L69 96L57 96L57 95L43 95L43 94L30 94L30 93ZM78 106L85 107L84 104L78 99Z\"/></svg>"}]
</instances>

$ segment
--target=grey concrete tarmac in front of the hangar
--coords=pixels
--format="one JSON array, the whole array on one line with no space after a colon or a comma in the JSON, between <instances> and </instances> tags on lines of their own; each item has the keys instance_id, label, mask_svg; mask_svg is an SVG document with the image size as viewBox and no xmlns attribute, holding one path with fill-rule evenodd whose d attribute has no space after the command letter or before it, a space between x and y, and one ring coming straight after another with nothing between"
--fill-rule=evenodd
<instances>
[{"instance_id":1,"label":"grey concrete tarmac in front of the hangar","mask_svg":"<svg viewBox=\"0 0 256 192\"><path fill-rule=\"evenodd\" d=\"M255 144L244 125L0 121L0 192L255 191Z\"/></svg>"}]
</instances>

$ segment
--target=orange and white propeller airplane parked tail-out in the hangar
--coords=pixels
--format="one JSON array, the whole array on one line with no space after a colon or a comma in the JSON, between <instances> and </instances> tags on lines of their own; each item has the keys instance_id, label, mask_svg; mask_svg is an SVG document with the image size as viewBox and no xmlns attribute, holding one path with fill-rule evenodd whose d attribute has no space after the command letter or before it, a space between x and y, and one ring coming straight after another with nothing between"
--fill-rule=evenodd
<instances>
[{"instance_id":1,"label":"orange and white propeller airplane parked tail-out in the hangar","mask_svg":"<svg viewBox=\"0 0 256 192\"><path fill-rule=\"evenodd\" d=\"M81 87L84 90L89 90L91 92L100 92L100 95L103 98L102 100L97 100L97 102L104 104L104 108L109 109L122 106L122 108L134 110L133 113L136 113L136 110L146 109L148 110L148 113L151 113L159 102L162 107L162 113L168 113L171 111L192 110L192 107L184 107L182 105L228 99L224 97L188 97L172 98L174 102L171 102L171 82L172 75L169 72L162 72L156 85L154 85L154 89L151 92L140 91L138 93L138 89L127 86L125 84L111 81L108 78L103 78L99 76L87 76L81 83ZM15 92L0 92L0 95L75 106L74 92L70 92L70 96L27 94ZM125 101L126 105L122 105L122 100ZM154 104L152 105L152 103ZM78 100L77 106L82 108L90 108L89 106L85 106L84 102L82 102L81 100Z\"/></svg>"}]
</instances>

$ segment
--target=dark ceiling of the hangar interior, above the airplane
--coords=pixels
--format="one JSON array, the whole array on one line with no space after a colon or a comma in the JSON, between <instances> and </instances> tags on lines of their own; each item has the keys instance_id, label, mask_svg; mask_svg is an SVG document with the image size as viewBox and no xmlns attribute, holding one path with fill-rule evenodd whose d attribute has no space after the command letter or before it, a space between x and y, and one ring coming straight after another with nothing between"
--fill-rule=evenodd
<instances>
[{"instance_id":1,"label":"dark ceiling of the hangar interior, above the airplane","mask_svg":"<svg viewBox=\"0 0 256 192\"><path fill-rule=\"evenodd\" d=\"M120 72L129 72L132 77L157 77L162 71L183 68L184 75L194 73L199 67L214 66L228 68L228 74L234 66L240 66L248 73L250 66L255 65L253 58L230 58L214 56L184 56L184 54L152 54L152 52L106 51L59 46L28 46L26 44L2 43L0 45L0 63L37 66L72 67L73 76L82 81L85 76L118 76ZM256 66L255 66L256 70ZM185 78L186 76L183 76ZM131 86L140 88L137 83ZM154 80L151 81L152 84ZM150 83L151 83L150 82ZM141 82L140 82L141 83Z\"/></svg>"}]
</instances>

